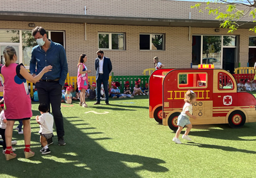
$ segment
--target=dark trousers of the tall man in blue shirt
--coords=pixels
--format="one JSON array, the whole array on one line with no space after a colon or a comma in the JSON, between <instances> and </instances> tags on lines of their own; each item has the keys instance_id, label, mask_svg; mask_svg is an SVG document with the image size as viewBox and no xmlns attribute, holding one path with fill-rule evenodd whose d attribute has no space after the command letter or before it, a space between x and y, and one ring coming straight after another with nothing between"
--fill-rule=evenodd
<instances>
[{"instance_id":1,"label":"dark trousers of the tall man in blue shirt","mask_svg":"<svg viewBox=\"0 0 256 178\"><path fill-rule=\"evenodd\" d=\"M36 83L36 89L38 92L39 103L46 103L49 108L51 104L57 135L58 137L63 137L65 131L61 114L62 85L60 85L58 81L46 82L40 80L40 82Z\"/></svg>"}]
</instances>

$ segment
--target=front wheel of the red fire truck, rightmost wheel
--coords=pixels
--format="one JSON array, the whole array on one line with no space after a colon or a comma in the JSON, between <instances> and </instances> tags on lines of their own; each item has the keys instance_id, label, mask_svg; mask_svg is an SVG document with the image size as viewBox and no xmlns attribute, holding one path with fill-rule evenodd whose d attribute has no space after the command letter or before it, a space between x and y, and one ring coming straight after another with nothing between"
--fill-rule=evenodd
<instances>
[{"instance_id":1,"label":"front wheel of the red fire truck, rightmost wheel","mask_svg":"<svg viewBox=\"0 0 256 178\"><path fill-rule=\"evenodd\" d=\"M228 124L231 128L241 128L245 123L246 117L241 110L234 110L228 116Z\"/></svg>"}]
</instances>

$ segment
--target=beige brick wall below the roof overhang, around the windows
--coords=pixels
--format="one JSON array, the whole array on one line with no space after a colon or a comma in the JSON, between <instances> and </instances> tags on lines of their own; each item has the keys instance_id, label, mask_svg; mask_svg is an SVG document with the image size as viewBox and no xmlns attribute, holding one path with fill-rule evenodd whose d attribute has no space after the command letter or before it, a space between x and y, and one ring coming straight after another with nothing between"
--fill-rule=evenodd
<instances>
[{"instance_id":1,"label":"beige brick wall below the roof overhang, around the windows","mask_svg":"<svg viewBox=\"0 0 256 178\"><path fill-rule=\"evenodd\" d=\"M29 22L0 21L3 29L31 29ZM87 40L84 40L84 24L61 24L35 22L46 30L65 31L68 70L70 75L77 75L77 61L80 54L88 55L88 69L95 75L94 61L98 50L98 32L126 33L126 50L104 50L110 57L115 75L142 75L144 69L154 68L153 57L158 56L167 68L190 68L192 38L189 41L188 27L151 27L151 26L111 26L88 24ZM166 50L140 50L140 33L164 33ZM214 29L191 28L193 34L227 34L226 29L216 33ZM239 29L234 34L240 36L239 59L242 66L248 63L248 38L255 35L248 29Z\"/></svg>"}]
</instances>

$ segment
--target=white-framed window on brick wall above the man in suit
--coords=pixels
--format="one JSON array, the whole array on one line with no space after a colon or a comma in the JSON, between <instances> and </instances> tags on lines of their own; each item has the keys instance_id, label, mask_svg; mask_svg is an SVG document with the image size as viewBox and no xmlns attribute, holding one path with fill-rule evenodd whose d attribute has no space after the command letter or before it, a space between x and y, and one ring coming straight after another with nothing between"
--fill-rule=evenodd
<instances>
[{"instance_id":1,"label":"white-framed window on brick wall above the man in suit","mask_svg":"<svg viewBox=\"0 0 256 178\"><path fill-rule=\"evenodd\" d=\"M125 50L124 33L99 33L99 49Z\"/></svg>"}]
</instances>

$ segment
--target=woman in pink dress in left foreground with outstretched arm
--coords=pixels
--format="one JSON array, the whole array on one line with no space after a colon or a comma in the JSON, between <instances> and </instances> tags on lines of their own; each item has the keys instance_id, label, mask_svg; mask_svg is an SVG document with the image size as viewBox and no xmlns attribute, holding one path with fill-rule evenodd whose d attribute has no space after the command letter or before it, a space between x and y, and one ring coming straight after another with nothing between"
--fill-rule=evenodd
<instances>
[{"instance_id":1,"label":"woman in pink dress in left foreground with outstretched arm","mask_svg":"<svg viewBox=\"0 0 256 178\"><path fill-rule=\"evenodd\" d=\"M30 149L31 128L30 117L32 117L31 98L28 91L29 82L36 83L43 77L44 73L51 71L52 66L45 66L38 75L33 77L23 64L16 64L17 54L15 48L7 46L4 48L5 64L1 66L0 73L4 77L4 116L7 119L5 130L6 160L16 158L12 151L12 131L15 121L22 120L24 124L25 158L35 155Z\"/></svg>"}]
</instances>

